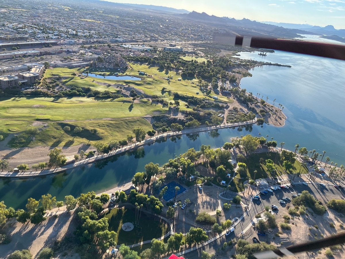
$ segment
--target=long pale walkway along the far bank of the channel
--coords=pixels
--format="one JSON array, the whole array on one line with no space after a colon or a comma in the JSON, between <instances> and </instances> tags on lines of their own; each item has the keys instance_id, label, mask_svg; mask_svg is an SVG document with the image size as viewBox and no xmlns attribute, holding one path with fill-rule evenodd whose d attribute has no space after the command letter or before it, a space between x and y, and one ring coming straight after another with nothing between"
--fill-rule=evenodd
<instances>
[{"instance_id":1,"label":"long pale walkway along the far bank of the channel","mask_svg":"<svg viewBox=\"0 0 345 259\"><path fill-rule=\"evenodd\" d=\"M190 133L197 133L197 132L204 132L204 131L210 131L210 130L219 130L221 128L228 128L228 127L238 127L238 126L246 126L246 125L252 125L256 123L256 118L252 122L243 122L243 123L228 123L228 124L221 124L217 126L210 126L210 127L200 127L200 128L190 128L186 130L182 130L180 132L167 132L162 133L160 135L148 138L146 140L143 140L141 142L137 142L131 145L128 145L126 147L119 148L117 150L111 151L108 154L102 154L102 155L96 155L84 160L80 160L78 162L75 162L73 164L68 164L62 167L58 167L55 169L49 169L49 170L43 170L43 171L36 171L36 172L0 172L0 177L15 177L15 178L31 178L34 176L42 176L42 175L48 175L48 174L55 174L59 172L63 172L68 169L81 167L90 163L93 163L98 160L106 159L108 157L118 155L121 153L125 153L131 150L135 150L138 147L145 146L147 144L154 143L155 141L159 140L160 138L165 137L173 137L173 136L179 136L184 134L190 134Z\"/></svg>"}]
</instances>

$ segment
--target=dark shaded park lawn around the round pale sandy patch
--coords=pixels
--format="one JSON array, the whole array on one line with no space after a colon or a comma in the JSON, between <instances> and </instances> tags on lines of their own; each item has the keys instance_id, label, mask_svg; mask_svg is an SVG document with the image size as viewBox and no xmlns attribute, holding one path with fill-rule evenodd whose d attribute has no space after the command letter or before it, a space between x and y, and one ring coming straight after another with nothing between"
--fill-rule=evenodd
<instances>
[{"instance_id":1,"label":"dark shaded park lawn around the round pale sandy patch","mask_svg":"<svg viewBox=\"0 0 345 259\"><path fill-rule=\"evenodd\" d=\"M118 244L135 244L164 236L168 231L168 224L153 215L141 213L139 228L132 231L124 231L121 226L126 222L135 221L135 209L115 208L104 216L109 219L109 230L117 232Z\"/></svg>"}]
</instances>

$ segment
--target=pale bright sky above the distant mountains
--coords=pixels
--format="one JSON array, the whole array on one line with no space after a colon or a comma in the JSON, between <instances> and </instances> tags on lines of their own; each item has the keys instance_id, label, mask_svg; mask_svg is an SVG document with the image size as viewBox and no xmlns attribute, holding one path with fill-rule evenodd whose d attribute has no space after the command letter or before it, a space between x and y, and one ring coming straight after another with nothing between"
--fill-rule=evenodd
<instances>
[{"instance_id":1,"label":"pale bright sky above the distant mountains","mask_svg":"<svg viewBox=\"0 0 345 259\"><path fill-rule=\"evenodd\" d=\"M333 25L345 29L345 0L108 0L118 3L152 4L209 15L256 21Z\"/></svg>"}]
</instances>

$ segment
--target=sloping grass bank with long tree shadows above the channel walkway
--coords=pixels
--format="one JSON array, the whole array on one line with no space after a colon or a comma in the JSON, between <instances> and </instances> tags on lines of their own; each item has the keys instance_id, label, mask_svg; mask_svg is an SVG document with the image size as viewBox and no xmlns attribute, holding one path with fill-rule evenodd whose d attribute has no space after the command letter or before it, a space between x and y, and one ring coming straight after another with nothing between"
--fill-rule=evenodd
<instances>
[{"instance_id":1,"label":"sloping grass bank with long tree shadows above the channel walkway","mask_svg":"<svg viewBox=\"0 0 345 259\"><path fill-rule=\"evenodd\" d=\"M63 127L69 126L71 131L63 131ZM74 134L75 127L81 127L83 130ZM151 124L144 118L125 118L116 120L99 121L80 121L80 122L56 122L47 123L45 129L40 131L33 138L26 131L14 136L8 145L12 148L25 146L73 146L78 144L92 144L95 141L109 143L112 140L122 140L127 134L133 135L132 129L141 127L145 131L151 130ZM91 129L96 128L97 134L92 134ZM0 134L1 135L1 134Z\"/></svg>"}]
</instances>

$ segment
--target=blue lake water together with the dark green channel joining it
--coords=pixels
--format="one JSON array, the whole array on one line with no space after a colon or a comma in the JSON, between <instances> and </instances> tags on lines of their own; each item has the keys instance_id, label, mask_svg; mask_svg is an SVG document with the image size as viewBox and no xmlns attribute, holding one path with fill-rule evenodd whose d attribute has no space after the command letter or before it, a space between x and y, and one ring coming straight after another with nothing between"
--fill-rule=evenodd
<instances>
[{"instance_id":1,"label":"blue lake water together with the dark green channel joining it","mask_svg":"<svg viewBox=\"0 0 345 259\"><path fill-rule=\"evenodd\" d=\"M242 58L291 65L291 68L263 66L252 69L253 77L242 79L241 87L253 95L260 93L276 98L276 105L284 106L287 115L283 127L253 125L248 128L203 132L196 136L181 136L173 141L157 142L136 152L116 156L66 173L28 180L0 180L0 200L8 206L24 208L29 197L39 199L50 193L63 200L65 195L78 196L94 190L101 192L129 182L136 172L144 171L149 162L162 165L169 158L202 144L220 147L231 137L252 134L269 135L284 147L294 150L296 143L327 152L331 161L345 163L345 62L277 51L266 57L255 53L241 53ZM90 74L89 74L90 76Z\"/></svg>"}]
</instances>

